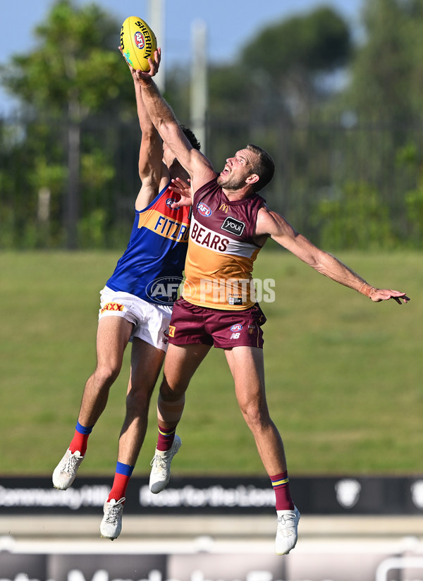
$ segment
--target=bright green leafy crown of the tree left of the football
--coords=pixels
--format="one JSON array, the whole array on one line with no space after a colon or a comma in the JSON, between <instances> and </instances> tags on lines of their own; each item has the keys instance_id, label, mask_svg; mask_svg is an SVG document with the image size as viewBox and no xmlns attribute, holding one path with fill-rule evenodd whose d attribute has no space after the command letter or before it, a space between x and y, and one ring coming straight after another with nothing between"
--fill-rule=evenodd
<instances>
[{"instance_id":1,"label":"bright green leafy crown of the tree left of the football","mask_svg":"<svg viewBox=\"0 0 423 581\"><path fill-rule=\"evenodd\" d=\"M72 0L59 0L35 28L37 47L13 56L4 84L38 111L63 114L73 103L85 117L120 108L128 79L117 50L118 30L119 23L96 4L78 8Z\"/></svg>"}]
</instances>

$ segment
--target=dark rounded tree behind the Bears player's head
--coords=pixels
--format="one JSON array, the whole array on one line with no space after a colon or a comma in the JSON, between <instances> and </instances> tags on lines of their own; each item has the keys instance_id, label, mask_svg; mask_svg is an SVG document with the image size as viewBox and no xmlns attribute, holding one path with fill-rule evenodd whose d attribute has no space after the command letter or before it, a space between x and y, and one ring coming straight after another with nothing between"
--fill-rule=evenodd
<instances>
[{"instance_id":1,"label":"dark rounded tree behind the Bears player's head","mask_svg":"<svg viewBox=\"0 0 423 581\"><path fill-rule=\"evenodd\" d=\"M288 195L304 187L305 175L310 185L321 185L319 166L310 171L307 135L295 127L312 120L328 98L321 78L344 66L351 53L348 23L331 8L259 31L235 63L210 71L210 121L217 135L211 142L212 158L221 163L231 149L248 141L272 152L278 171L266 197L281 212L292 205ZM296 185L288 173L293 164Z\"/></svg>"}]
</instances>

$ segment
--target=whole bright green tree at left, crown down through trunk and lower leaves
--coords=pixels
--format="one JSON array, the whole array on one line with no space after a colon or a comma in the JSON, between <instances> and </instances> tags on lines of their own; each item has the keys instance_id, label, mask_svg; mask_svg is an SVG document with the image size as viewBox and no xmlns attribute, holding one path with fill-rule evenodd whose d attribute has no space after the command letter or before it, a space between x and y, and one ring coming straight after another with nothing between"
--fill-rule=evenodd
<instances>
[{"instance_id":1,"label":"whole bright green tree at left, crown down through trunk and lower leaves","mask_svg":"<svg viewBox=\"0 0 423 581\"><path fill-rule=\"evenodd\" d=\"M25 185L15 184L9 198L16 204L21 192L32 210L14 224L19 240L31 232L32 245L61 245L66 229L68 246L76 247L78 219L97 216L91 200L113 183L114 150L103 146L101 134L106 120L120 123L135 114L119 30L120 23L96 4L59 0L35 29L35 49L13 56L3 71L4 85L25 104L25 141L16 149L18 154L22 147L26 158L20 176ZM48 233L39 223L40 192L48 195Z\"/></svg>"}]
</instances>

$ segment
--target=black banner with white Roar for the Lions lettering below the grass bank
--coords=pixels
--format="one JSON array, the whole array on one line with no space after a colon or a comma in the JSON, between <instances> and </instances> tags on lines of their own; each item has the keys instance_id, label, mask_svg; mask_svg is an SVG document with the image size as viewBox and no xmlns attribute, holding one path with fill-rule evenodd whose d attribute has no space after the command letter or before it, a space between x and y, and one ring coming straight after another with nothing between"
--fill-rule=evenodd
<instances>
[{"instance_id":1,"label":"black banner with white Roar for the Lions lettering below the grass bank","mask_svg":"<svg viewBox=\"0 0 423 581\"><path fill-rule=\"evenodd\" d=\"M291 477L290 484L303 515L423 513L423 477ZM97 514L110 486L110 478L78 477L63 491L50 477L0 477L0 515ZM125 514L273 515L274 503L266 477L172 477L160 494L150 493L147 477L133 477Z\"/></svg>"}]
</instances>

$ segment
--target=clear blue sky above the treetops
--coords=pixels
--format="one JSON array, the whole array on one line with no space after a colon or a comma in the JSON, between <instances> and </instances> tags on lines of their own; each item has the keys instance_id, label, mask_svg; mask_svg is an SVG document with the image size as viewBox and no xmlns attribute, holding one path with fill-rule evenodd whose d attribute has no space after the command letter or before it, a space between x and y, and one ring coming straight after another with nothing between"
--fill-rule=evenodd
<instances>
[{"instance_id":1,"label":"clear blue sky above the treetops","mask_svg":"<svg viewBox=\"0 0 423 581\"><path fill-rule=\"evenodd\" d=\"M88 4L86 0L75 0ZM365 0L161 0L165 10L164 47L166 67L185 66L190 62L191 30L195 20L207 25L207 48L212 61L231 61L243 44L264 25L296 14L307 13L317 6L331 6L341 16L358 25ZM12 54L23 54L35 46L34 27L42 23L52 0L19 0L3 2L0 8L3 24L0 35L0 62ZM149 21L148 0L97 0L104 10L123 22L127 16ZM116 47L118 46L116 30ZM13 102L0 88L0 115L13 109Z\"/></svg>"}]
</instances>

